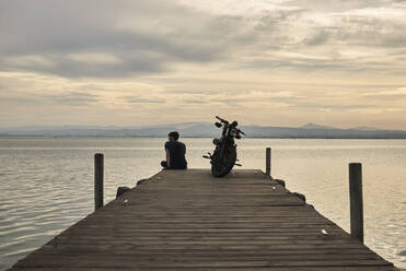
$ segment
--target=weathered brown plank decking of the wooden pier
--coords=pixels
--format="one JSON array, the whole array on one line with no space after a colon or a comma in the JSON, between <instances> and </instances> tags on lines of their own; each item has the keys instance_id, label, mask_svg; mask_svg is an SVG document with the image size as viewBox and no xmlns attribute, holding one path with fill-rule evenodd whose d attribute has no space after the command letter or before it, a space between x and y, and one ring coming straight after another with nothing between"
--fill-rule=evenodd
<instances>
[{"instance_id":1,"label":"weathered brown plank decking of the wooden pier","mask_svg":"<svg viewBox=\"0 0 406 271\"><path fill-rule=\"evenodd\" d=\"M188 169L156 174L11 270L396 269L260 170Z\"/></svg>"}]
</instances>

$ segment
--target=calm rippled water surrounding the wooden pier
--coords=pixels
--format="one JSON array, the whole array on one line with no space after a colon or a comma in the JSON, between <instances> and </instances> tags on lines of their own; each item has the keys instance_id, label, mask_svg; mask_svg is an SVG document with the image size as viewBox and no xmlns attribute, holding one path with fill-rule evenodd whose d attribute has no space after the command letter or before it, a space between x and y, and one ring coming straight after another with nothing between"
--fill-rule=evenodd
<instances>
[{"instance_id":1,"label":"calm rippled water surrounding the wooden pier","mask_svg":"<svg viewBox=\"0 0 406 271\"><path fill-rule=\"evenodd\" d=\"M105 154L105 202L160 170L165 139L0 138L0 270L93 211L93 155ZM189 167L211 139L183 139ZM243 139L243 168L265 167L349 231L348 163L363 165L366 244L406 268L406 140Z\"/></svg>"}]
</instances>

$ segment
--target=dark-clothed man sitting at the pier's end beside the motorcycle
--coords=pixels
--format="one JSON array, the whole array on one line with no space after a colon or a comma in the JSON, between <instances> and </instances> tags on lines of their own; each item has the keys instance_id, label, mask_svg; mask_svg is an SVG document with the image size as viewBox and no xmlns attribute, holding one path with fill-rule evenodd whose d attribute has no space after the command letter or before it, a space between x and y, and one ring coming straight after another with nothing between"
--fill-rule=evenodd
<instances>
[{"instance_id":1,"label":"dark-clothed man sitting at the pier's end beside the motorcycle","mask_svg":"<svg viewBox=\"0 0 406 271\"><path fill-rule=\"evenodd\" d=\"M186 169L187 162L185 158L186 145L179 141L177 131L167 134L169 141L165 143L166 161L162 161L162 167L166 169Z\"/></svg>"}]
</instances>

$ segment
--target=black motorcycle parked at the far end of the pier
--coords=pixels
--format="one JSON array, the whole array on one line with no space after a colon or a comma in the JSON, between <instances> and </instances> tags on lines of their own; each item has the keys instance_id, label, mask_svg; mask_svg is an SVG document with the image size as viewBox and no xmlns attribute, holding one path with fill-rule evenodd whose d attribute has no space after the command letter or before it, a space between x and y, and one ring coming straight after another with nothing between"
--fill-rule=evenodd
<instances>
[{"instance_id":1,"label":"black motorcycle parked at the far end of the pier","mask_svg":"<svg viewBox=\"0 0 406 271\"><path fill-rule=\"evenodd\" d=\"M222 128L220 139L213 139L216 145L214 153L211 155L204 155L205 158L209 158L211 163L211 174L216 177L224 177L228 175L234 165L241 166L236 163L236 144L234 139L241 139L241 134L246 136L237 127L237 122L229 122L218 116L216 118L220 122L216 122L216 127Z\"/></svg>"}]
</instances>

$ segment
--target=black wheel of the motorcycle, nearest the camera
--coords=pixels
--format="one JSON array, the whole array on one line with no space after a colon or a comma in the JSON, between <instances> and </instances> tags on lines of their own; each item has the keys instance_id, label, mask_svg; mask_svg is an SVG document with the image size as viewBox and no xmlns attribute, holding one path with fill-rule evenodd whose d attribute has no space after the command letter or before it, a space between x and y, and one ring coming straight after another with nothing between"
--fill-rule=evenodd
<instances>
[{"instance_id":1,"label":"black wheel of the motorcycle, nearest the camera","mask_svg":"<svg viewBox=\"0 0 406 271\"><path fill-rule=\"evenodd\" d=\"M220 157L220 148L217 148L211 156L211 174L214 177L224 177L233 168L236 161L235 146L227 148Z\"/></svg>"}]
</instances>

